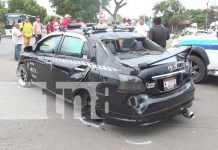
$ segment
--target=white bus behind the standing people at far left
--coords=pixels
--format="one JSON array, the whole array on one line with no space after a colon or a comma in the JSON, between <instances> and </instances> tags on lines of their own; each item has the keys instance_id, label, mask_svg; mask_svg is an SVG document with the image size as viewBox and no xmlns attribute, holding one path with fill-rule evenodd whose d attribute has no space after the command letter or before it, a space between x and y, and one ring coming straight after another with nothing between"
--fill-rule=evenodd
<instances>
[{"instance_id":1,"label":"white bus behind the standing people at far left","mask_svg":"<svg viewBox=\"0 0 218 150\"><path fill-rule=\"evenodd\" d=\"M35 21L35 16L27 15L24 13L7 13L2 16L3 25L5 29L5 36L12 36L12 27L14 23L21 24L26 17L29 17L30 22Z\"/></svg>"}]
</instances>

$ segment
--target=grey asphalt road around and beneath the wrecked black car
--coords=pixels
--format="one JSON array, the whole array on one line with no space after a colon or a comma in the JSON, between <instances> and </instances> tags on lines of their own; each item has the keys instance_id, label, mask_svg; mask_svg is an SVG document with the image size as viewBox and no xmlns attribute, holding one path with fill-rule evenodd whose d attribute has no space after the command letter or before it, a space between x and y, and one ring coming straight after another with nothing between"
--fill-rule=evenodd
<instances>
[{"instance_id":1,"label":"grey asphalt road around and beneath the wrecked black car","mask_svg":"<svg viewBox=\"0 0 218 150\"><path fill-rule=\"evenodd\" d=\"M71 104L46 96L38 87L17 86L16 67L13 43L4 38L0 43L0 150L218 149L218 77L196 85L194 119L178 116L148 127L127 128L92 126L73 119Z\"/></svg>"}]
</instances>

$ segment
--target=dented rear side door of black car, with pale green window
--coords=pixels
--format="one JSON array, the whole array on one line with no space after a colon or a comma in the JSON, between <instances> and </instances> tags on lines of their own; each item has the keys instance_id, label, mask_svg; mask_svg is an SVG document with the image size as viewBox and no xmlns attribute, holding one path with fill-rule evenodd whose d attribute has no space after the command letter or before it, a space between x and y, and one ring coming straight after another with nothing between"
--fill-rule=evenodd
<instances>
[{"instance_id":1,"label":"dented rear side door of black car, with pale green window","mask_svg":"<svg viewBox=\"0 0 218 150\"><path fill-rule=\"evenodd\" d=\"M65 36L53 64L53 82L84 81L92 66L89 50L85 39Z\"/></svg>"}]
</instances>

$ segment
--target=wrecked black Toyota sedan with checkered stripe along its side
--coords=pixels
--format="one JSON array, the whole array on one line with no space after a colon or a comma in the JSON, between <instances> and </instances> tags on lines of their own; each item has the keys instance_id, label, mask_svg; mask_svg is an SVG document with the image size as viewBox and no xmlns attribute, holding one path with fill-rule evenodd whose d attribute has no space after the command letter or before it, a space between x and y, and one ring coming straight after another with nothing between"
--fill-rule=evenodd
<instances>
[{"instance_id":1,"label":"wrecked black Toyota sedan with checkered stripe along its side","mask_svg":"<svg viewBox=\"0 0 218 150\"><path fill-rule=\"evenodd\" d=\"M191 118L191 49L184 46L169 53L126 30L55 32L24 48L17 79L23 87L45 82L47 90L67 100L80 96L82 115L95 114L94 119L107 123L146 125L180 114ZM58 83L75 86L61 90Z\"/></svg>"}]
</instances>

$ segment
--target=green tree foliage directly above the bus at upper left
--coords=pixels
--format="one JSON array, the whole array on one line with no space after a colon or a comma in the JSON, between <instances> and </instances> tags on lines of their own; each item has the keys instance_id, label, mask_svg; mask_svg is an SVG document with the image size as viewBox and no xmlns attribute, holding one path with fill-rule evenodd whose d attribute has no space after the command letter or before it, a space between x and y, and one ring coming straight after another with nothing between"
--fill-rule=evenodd
<instances>
[{"instance_id":1,"label":"green tree foliage directly above the bus at upper left","mask_svg":"<svg viewBox=\"0 0 218 150\"><path fill-rule=\"evenodd\" d=\"M44 7L37 4L35 0L10 0L10 13L26 13L28 15L39 15L42 20L47 16L47 11Z\"/></svg>"}]
</instances>

